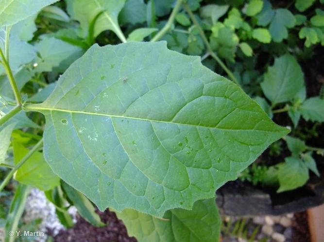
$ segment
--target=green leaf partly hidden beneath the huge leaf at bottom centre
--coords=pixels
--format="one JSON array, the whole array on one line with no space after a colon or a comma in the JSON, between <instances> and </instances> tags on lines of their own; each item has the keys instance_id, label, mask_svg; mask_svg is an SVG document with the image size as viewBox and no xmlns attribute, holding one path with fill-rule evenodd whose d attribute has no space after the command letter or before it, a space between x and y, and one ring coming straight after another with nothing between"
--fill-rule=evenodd
<instances>
[{"instance_id":1,"label":"green leaf partly hidden beneath the huge leaf at bottom centre","mask_svg":"<svg viewBox=\"0 0 324 242\"><path fill-rule=\"evenodd\" d=\"M191 211L172 209L163 219L132 209L117 216L139 242L217 242L220 237L221 219L214 198L195 202Z\"/></svg>"}]
</instances>

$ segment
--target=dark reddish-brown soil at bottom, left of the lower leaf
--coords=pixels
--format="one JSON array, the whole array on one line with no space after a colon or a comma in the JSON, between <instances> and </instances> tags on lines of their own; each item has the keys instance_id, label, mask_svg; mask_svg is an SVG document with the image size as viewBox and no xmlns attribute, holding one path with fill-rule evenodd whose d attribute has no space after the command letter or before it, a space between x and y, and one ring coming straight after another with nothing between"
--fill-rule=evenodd
<instances>
[{"instance_id":1,"label":"dark reddish-brown soil at bottom, left of the lower leaf","mask_svg":"<svg viewBox=\"0 0 324 242\"><path fill-rule=\"evenodd\" d=\"M102 222L108 223L106 227L94 227L82 217L77 217L74 227L61 230L55 237L55 242L137 242L134 237L129 237L126 227L116 217L115 212L108 209L97 212Z\"/></svg>"}]
</instances>

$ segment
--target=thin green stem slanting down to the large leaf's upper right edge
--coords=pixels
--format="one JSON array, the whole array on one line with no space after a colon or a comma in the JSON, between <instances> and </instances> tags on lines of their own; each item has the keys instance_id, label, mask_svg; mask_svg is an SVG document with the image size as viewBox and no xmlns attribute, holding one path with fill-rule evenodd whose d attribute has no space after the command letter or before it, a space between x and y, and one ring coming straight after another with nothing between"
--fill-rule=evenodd
<instances>
[{"instance_id":1,"label":"thin green stem slanting down to the large leaf's upper right edge","mask_svg":"<svg viewBox=\"0 0 324 242\"><path fill-rule=\"evenodd\" d=\"M198 23L197 19L195 18L195 16L193 15L192 11L190 10L189 6L187 5L187 3L183 2L182 5L184 6L184 8L186 9L189 17L191 18L191 21L194 23L194 25L197 27L200 36L203 38L203 41L206 45L207 51L209 52L210 56L212 58L215 59L215 61L218 62L218 64L223 68L223 70L227 73L227 75L229 76L229 78L231 78L231 80L240 87L238 80L236 79L236 77L234 76L234 74L227 68L227 66L224 64L224 62L214 53L214 51L212 50L211 46L209 45L209 42L207 40L207 37L204 33L204 30L202 29L202 27L200 26L200 24Z\"/></svg>"}]
</instances>

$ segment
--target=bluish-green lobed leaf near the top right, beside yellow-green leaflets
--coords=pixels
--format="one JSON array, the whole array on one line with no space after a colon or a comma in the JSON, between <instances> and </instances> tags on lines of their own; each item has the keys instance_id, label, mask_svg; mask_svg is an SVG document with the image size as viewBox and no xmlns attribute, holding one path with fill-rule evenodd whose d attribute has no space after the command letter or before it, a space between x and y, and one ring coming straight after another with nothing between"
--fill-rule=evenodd
<instances>
[{"instance_id":1,"label":"bluish-green lobed leaf near the top right, beside yellow-green leaflets","mask_svg":"<svg viewBox=\"0 0 324 242\"><path fill-rule=\"evenodd\" d=\"M283 8L276 9L269 26L273 41L281 42L283 39L287 39L287 29L294 27L295 22L296 19L289 10Z\"/></svg>"}]
</instances>

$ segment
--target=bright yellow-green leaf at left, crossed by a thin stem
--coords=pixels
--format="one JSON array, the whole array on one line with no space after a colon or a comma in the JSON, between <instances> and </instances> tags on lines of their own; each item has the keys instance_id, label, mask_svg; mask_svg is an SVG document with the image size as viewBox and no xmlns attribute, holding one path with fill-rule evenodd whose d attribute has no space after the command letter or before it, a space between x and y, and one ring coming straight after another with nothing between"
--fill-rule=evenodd
<instances>
[{"instance_id":1,"label":"bright yellow-green leaf at left, crossed by a thin stem","mask_svg":"<svg viewBox=\"0 0 324 242\"><path fill-rule=\"evenodd\" d=\"M22 144L13 141L15 163L28 153ZM17 170L15 179L20 183L32 185L39 190L46 191L53 189L60 184L60 178L56 176L46 163L43 153L36 151L32 156Z\"/></svg>"}]
</instances>

